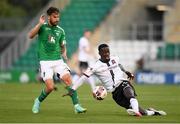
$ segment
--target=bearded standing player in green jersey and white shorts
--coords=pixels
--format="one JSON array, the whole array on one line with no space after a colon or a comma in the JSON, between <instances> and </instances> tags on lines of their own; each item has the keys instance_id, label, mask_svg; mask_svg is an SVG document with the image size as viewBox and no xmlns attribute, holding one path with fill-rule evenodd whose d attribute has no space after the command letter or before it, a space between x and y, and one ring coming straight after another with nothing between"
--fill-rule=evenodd
<instances>
[{"instance_id":1,"label":"bearded standing player in green jersey and white shorts","mask_svg":"<svg viewBox=\"0 0 180 124\"><path fill-rule=\"evenodd\" d=\"M40 96L34 101L33 113L39 112L40 103L54 90L54 74L57 74L63 80L68 91L72 90L70 87L72 83L70 69L62 59L62 57L67 59L66 40L64 30L58 26L59 18L59 10L55 7L50 7L47 10L47 22L45 15L41 15L39 23L29 32L29 38L31 39L38 35L38 57L41 77L46 85ZM77 92L73 92L71 98L75 112L86 112L86 109L79 104Z\"/></svg>"}]
</instances>

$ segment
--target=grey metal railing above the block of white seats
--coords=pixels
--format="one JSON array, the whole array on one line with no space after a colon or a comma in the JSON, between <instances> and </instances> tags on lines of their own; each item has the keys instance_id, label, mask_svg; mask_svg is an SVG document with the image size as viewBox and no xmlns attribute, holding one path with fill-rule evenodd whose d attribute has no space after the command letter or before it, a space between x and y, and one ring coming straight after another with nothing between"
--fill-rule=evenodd
<instances>
[{"instance_id":1,"label":"grey metal railing above the block of white seats","mask_svg":"<svg viewBox=\"0 0 180 124\"><path fill-rule=\"evenodd\" d=\"M163 41L164 32L163 25L160 23L133 23L126 27L118 27L118 25L110 25L110 34L113 40L149 40L149 41Z\"/></svg>"}]
</instances>

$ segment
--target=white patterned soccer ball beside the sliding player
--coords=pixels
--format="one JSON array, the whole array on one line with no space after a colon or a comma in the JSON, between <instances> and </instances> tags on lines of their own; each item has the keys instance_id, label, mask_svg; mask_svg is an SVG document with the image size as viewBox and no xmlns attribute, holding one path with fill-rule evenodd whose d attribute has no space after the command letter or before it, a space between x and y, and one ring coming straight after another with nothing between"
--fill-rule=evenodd
<instances>
[{"instance_id":1,"label":"white patterned soccer ball beside the sliding player","mask_svg":"<svg viewBox=\"0 0 180 124\"><path fill-rule=\"evenodd\" d=\"M103 86L96 86L93 90L93 96L97 100L103 100L107 96L107 90Z\"/></svg>"}]
</instances>

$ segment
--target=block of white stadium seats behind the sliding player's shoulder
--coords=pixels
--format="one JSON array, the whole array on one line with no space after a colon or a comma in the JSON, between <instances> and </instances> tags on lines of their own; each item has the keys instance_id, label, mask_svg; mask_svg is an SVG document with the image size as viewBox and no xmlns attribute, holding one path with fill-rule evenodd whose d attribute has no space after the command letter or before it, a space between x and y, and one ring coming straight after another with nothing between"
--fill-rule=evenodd
<instances>
[{"instance_id":1,"label":"block of white stadium seats behind the sliding player's shoulder","mask_svg":"<svg viewBox=\"0 0 180 124\"><path fill-rule=\"evenodd\" d=\"M156 59L159 44L156 42L150 43L148 41L128 41L119 40L111 41L109 43L112 55L118 55L120 57L121 64L130 71L136 70L136 62L142 57L148 59ZM148 53L151 53L148 56Z\"/></svg>"}]
</instances>

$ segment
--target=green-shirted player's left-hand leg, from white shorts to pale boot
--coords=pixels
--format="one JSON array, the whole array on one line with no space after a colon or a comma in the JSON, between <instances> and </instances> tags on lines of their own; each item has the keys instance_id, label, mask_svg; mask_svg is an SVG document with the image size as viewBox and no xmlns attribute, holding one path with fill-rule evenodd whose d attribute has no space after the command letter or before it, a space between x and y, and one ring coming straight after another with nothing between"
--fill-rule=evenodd
<instances>
[{"instance_id":1,"label":"green-shirted player's left-hand leg, from white shorts to pale boot","mask_svg":"<svg viewBox=\"0 0 180 124\"><path fill-rule=\"evenodd\" d=\"M41 91L39 97L34 100L32 107L33 113L38 113L40 110L40 103L54 90L53 70L50 67L41 65L41 77L43 78L46 87Z\"/></svg>"}]
</instances>

